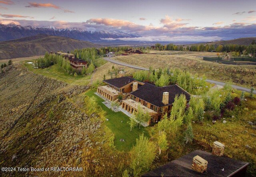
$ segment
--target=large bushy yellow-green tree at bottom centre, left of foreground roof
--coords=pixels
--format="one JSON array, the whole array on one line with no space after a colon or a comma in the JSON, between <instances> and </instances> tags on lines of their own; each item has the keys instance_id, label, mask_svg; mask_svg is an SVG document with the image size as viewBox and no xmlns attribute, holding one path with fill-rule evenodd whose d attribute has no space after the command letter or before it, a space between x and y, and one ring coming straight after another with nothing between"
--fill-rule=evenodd
<instances>
[{"instance_id":1,"label":"large bushy yellow-green tree at bottom centre, left of foreground roof","mask_svg":"<svg viewBox=\"0 0 256 177\"><path fill-rule=\"evenodd\" d=\"M130 167L133 169L135 177L150 169L156 156L155 149L156 145L150 142L147 137L144 137L144 134L140 135L139 139L136 139L136 145L130 151Z\"/></svg>"}]
</instances>

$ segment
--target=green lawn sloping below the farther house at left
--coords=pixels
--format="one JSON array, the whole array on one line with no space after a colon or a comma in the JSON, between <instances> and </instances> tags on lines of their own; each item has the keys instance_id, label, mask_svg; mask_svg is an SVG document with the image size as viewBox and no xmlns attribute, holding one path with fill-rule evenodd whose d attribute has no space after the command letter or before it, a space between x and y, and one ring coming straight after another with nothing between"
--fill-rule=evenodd
<instances>
[{"instance_id":1,"label":"green lawn sloping below the farther house at left","mask_svg":"<svg viewBox=\"0 0 256 177\"><path fill-rule=\"evenodd\" d=\"M54 78L56 80L60 80L66 82L68 84L75 84L75 85L88 85L90 83L91 76L77 76L76 78L74 75L70 75L65 72L62 68L55 64L48 68L44 69L35 69L33 68L32 64L24 63L24 66L28 68L28 70L40 74L49 78Z\"/></svg>"}]
</instances>

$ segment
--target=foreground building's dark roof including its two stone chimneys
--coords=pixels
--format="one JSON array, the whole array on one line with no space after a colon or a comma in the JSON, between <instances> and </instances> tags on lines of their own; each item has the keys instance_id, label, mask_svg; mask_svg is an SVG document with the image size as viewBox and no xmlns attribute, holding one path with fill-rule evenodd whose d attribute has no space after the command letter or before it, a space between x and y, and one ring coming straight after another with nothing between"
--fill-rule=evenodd
<instances>
[{"instance_id":1,"label":"foreground building's dark roof including its two stone chimneys","mask_svg":"<svg viewBox=\"0 0 256 177\"><path fill-rule=\"evenodd\" d=\"M196 150L162 165L142 177L244 177L249 165L247 162L224 157L222 143L215 141L212 153Z\"/></svg>"}]
</instances>

